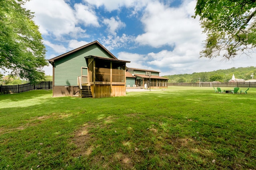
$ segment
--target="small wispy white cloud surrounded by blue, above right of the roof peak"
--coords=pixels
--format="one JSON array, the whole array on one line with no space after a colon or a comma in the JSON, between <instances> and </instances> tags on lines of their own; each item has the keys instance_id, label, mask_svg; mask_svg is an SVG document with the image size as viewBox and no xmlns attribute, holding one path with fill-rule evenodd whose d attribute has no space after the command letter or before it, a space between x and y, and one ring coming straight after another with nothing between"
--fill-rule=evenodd
<instances>
[{"instance_id":1,"label":"small wispy white cloud surrounded by blue, above right of the roof peak","mask_svg":"<svg viewBox=\"0 0 256 170\"><path fill-rule=\"evenodd\" d=\"M108 32L110 32L110 34L112 35L116 35L116 32L119 29L124 28L126 26L123 22L120 21L118 17L116 17L116 19L114 17L111 17L110 19L105 18L103 20L103 23L107 25Z\"/></svg>"}]
</instances>

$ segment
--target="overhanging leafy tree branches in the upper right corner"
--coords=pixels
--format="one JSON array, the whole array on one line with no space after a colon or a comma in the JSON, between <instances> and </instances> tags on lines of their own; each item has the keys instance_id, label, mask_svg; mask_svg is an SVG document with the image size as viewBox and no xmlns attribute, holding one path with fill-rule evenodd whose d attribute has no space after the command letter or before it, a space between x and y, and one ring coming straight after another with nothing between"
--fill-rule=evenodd
<instances>
[{"instance_id":1,"label":"overhanging leafy tree branches in the upper right corner","mask_svg":"<svg viewBox=\"0 0 256 170\"><path fill-rule=\"evenodd\" d=\"M197 0L196 16L207 35L200 57L229 60L255 49L255 0Z\"/></svg>"}]
</instances>

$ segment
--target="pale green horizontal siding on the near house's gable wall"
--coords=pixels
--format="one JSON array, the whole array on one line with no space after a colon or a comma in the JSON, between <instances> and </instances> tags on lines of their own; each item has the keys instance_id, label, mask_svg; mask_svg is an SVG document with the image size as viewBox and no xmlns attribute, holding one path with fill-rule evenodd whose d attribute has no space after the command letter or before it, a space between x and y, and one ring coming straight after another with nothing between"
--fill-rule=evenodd
<instances>
[{"instance_id":1,"label":"pale green horizontal siding on the near house's gable wall","mask_svg":"<svg viewBox=\"0 0 256 170\"><path fill-rule=\"evenodd\" d=\"M77 77L81 76L81 67L87 67L84 57L88 55L112 58L112 56L95 44L62 57L55 61L54 85L76 86Z\"/></svg>"}]
</instances>

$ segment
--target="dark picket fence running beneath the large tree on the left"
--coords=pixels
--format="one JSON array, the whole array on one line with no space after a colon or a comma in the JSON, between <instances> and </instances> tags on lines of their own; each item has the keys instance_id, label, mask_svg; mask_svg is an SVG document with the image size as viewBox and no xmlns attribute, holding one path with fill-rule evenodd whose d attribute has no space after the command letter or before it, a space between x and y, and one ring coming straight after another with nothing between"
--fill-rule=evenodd
<instances>
[{"instance_id":1,"label":"dark picket fence running beneath the large tree on the left","mask_svg":"<svg viewBox=\"0 0 256 170\"><path fill-rule=\"evenodd\" d=\"M31 90L52 89L52 81L38 81L22 85L0 85L0 95L23 93Z\"/></svg>"}]
</instances>

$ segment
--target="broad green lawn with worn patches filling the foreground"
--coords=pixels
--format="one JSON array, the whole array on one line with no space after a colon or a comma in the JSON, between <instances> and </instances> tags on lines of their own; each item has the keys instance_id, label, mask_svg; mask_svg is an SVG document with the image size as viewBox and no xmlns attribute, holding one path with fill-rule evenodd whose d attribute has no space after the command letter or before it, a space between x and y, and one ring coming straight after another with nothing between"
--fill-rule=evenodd
<instances>
[{"instance_id":1,"label":"broad green lawn with worn patches filling the foreground","mask_svg":"<svg viewBox=\"0 0 256 170\"><path fill-rule=\"evenodd\" d=\"M221 89L230 89L221 88ZM242 88L247 89L247 88ZM0 169L256 169L256 89L0 95Z\"/></svg>"}]
</instances>

